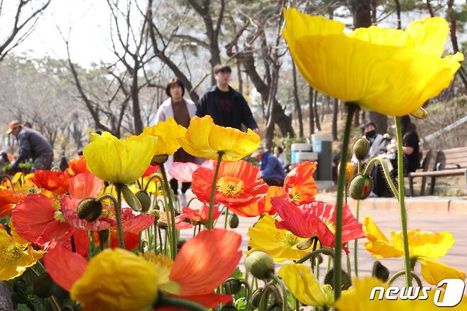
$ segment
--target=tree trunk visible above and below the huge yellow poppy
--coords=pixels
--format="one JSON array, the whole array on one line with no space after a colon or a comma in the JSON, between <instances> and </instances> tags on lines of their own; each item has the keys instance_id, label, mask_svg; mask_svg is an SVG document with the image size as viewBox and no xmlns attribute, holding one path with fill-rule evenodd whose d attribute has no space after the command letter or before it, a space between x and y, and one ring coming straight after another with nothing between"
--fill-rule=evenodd
<instances>
[{"instance_id":1,"label":"tree trunk visible above and below the huge yellow poppy","mask_svg":"<svg viewBox=\"0 0 467 311\"><path fill-rule=\"evenodd\" d=\"M353 28L363 28L371 26L370 0L351 0L351 10L353 18ZM370 111L370 121L376 125L378 133L386 133L388 128L388 117L378 112Z\"/></svg>"}]
</instances>

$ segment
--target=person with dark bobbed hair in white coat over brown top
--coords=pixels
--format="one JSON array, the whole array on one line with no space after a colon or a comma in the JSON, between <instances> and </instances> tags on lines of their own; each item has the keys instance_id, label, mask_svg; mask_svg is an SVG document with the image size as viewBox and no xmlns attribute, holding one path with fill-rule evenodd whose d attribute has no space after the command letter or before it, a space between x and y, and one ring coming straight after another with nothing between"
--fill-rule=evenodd
<instances>
[{"instance_id":1,"label":"person with dark bobbed hair in white coat over brown top","mask_svg":"<svg viewBox=\"0 0 467 311\"><path fill-rule=\"evenodd\" d=\"M191 100L183 97L185 94L185 86L183 83L176 77L170 79L165 87L165 94L167 94L167 97L169 98L160 105L155 117L155 124L173 117L177 124L188 127L189 121L196 114L196 105ZM170 170L174 162L194 163L195 158L193 155L190 155L180 148L174 153L174 155L171 155L168 158L165 164L167 172ZM175 195L178 195L182 206L187 204L185 192L187 192L190 185L190 182L182 182L181 192L178 192L178 181L175 178L170 179L170 187L172 187Z\"/></svg>"}]
</instances>

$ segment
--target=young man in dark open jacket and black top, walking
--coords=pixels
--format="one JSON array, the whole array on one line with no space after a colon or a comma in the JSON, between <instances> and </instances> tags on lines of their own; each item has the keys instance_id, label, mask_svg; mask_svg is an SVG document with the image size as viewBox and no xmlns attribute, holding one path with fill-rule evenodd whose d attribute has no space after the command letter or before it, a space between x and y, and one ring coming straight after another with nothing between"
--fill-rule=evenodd
<instances>
[{"instance_id":1,"label":"young man in dark open jacket and black top, walking","mask_svg":"<svg viewBox=\"0 0 467 311\"><path fill-rule=\"evenodd\" d=\"M207 89L199 99L196 115L209 115L219 126L241 130L243 124L247 129L258 132L258 125L243 95L229 86L231 72L228 65L214 67L216 85Z\"/></svg>"}]
</instances>

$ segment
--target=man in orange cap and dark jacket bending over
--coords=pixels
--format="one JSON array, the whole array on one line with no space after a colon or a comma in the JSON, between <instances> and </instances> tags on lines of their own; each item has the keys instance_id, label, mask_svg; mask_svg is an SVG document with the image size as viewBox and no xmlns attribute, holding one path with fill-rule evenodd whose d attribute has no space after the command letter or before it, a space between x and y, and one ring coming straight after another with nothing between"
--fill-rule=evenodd
<instances>
[{"instance_id":1,"label":"man in orange cap and dark jacket bending over","mask_svg":"<svg viewBox=\"0 0 467 311\"><path fill-rule=\"evenodd\" d=\"M17 170L19 163L28 158L33 158L33 171L52 168L53 148L41 133L21 126L19 121L12 121L7 133L13 134L19 144L19 155L11 165L12 170Z\"/></svg>"}]
</instances>

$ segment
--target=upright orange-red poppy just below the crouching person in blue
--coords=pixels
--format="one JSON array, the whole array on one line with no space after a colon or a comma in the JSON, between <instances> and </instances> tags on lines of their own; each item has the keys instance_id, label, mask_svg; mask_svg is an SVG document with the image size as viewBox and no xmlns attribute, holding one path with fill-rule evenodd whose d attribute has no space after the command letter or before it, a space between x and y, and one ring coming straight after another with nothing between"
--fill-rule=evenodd
<instances>
[{"instance_id":1,"label":"upright orange-red poppy just below the crouching person in blue","mask_svg":"<svg viewBox=\"0 0 467 311\"><path fill-rule=\"evenodd\" d=\"M318 188L313 178L313 173L316 169L316 162L305 161L297 164L285 176L285 192L287 192L287 196L290 199L294 200L295 204L307 204L314 201L314 195L318 193Z\"/></svg>"}]
</instances>

